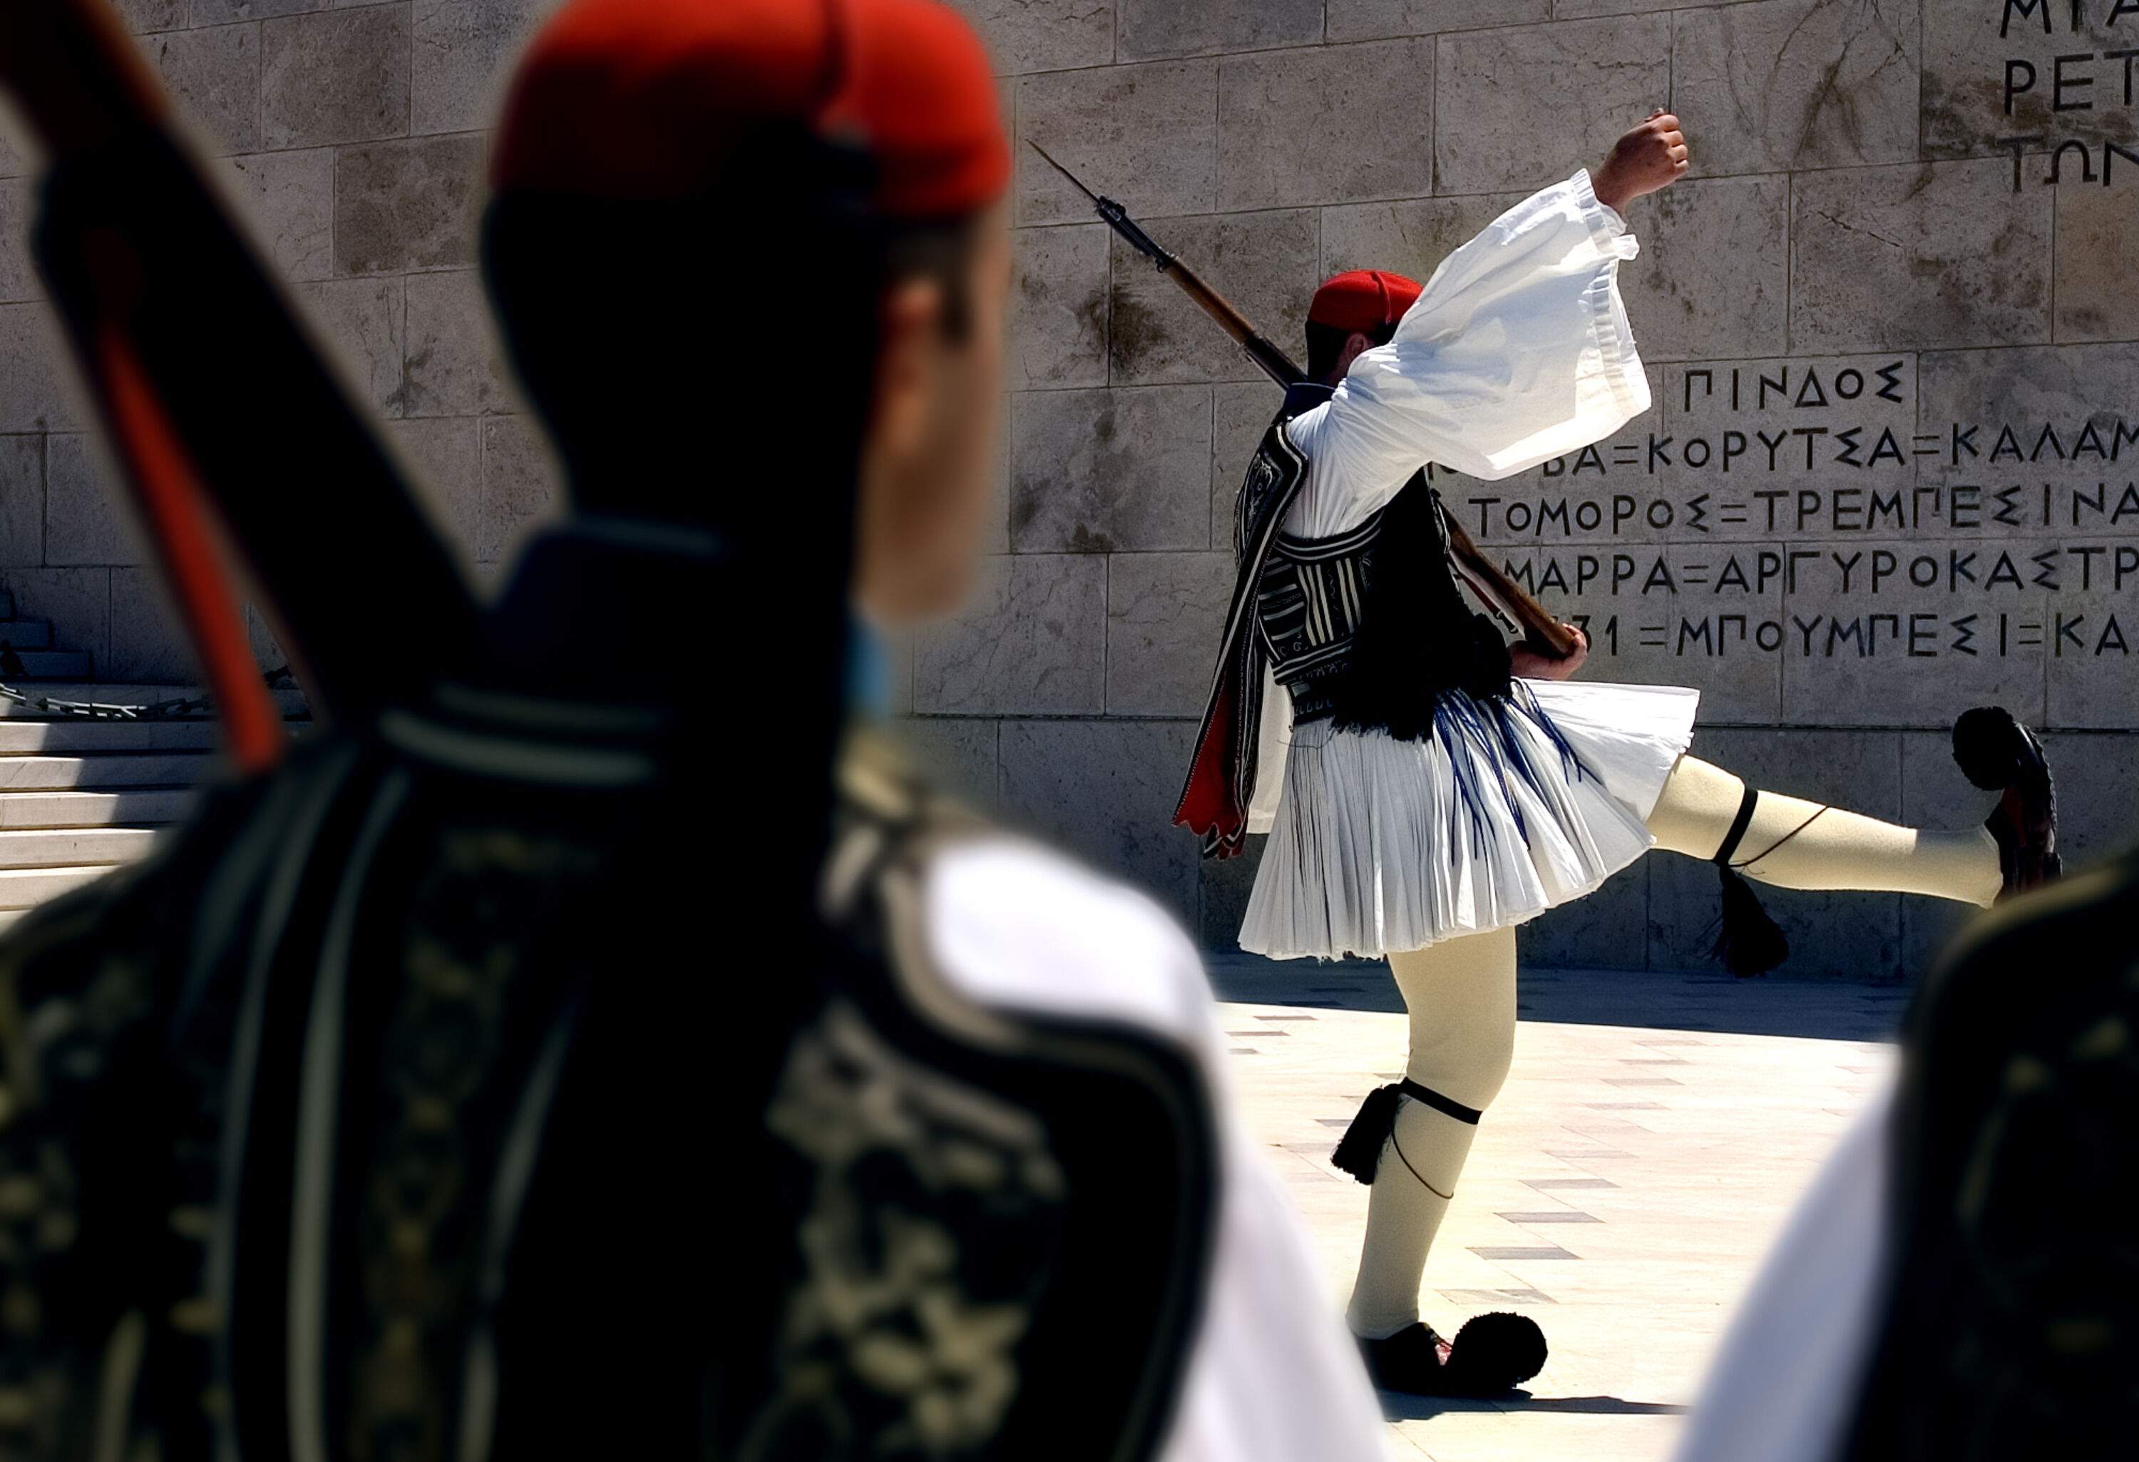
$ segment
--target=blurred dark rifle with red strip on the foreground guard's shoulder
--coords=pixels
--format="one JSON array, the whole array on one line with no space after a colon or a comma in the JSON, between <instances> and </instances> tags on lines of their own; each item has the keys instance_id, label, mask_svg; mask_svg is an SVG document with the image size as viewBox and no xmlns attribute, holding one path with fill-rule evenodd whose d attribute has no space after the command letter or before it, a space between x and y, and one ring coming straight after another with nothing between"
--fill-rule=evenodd
<instances>
[{"instance_id":1,"label":"blurred dark rifle with red strip on the foreground guard's shoulder","mask_svg":"<svg viewBox=\"0 0 2139 1462\"><path fill-rule=\"evenodd\" d=\"M160 122L154 77L98 0L41 0L75 17L68 77L32 124L58 165L36 257L77 362L178 593L242 760L265 696L220 539L261 589L321 715L406 698L460 657L475 599L445 544L344 394L190 150ZM58 21L56 21L58 24ZM0 79L21 92L0 64ZM143 101L148 98L148 101ZM56 128L103 126L94 148ZM88 118L88 122L83 122ZM242 390L240 422L229 398ZM250 691L240 689L250 681ZM240 706L252 704L252 711ZM278 728L276 728L278 734Z\"/></svg>"}]
</instances>

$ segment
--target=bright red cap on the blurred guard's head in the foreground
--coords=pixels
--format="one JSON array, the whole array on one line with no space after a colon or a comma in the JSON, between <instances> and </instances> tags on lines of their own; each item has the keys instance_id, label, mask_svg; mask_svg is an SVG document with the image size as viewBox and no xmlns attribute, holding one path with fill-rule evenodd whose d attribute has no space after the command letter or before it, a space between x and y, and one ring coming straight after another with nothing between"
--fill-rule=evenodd
<instances>
[{"instance_id":1,"label":"bright red cap on the blurred guard's head in the foreground","mask_svg":"<svg viewBox=\"0 0 2139 1462\"><path fill-rule=\"evenodd\" d=\"M695 197L783 120L864 143L894 218L973 212L1010 186L988 54L935 0L571 0L520 62L492 178Z\"/></svg>"}]
</instances>

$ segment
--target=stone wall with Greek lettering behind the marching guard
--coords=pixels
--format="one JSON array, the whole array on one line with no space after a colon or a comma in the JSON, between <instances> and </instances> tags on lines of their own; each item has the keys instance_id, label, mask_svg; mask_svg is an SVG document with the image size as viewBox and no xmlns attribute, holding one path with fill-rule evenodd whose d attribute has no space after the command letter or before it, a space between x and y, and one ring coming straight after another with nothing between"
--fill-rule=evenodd
<instances>
[{"instance_id":1,"label":"stone wall with Greek lettering behind the marching guard","mask_svg":"<svg viewBox=\"0 0 2139 1462\"><path fill-rule=\"evenodd\" d=\"M2139 158L2115 152L2139 109L2113 56L2139 6L960 2L1020 137L1288 349L1324 274L1425 278L1673 107L1694 169L1634 205L1621 274L1651 411L1444 494L1589 621L1589 674L1698 685L1701 751L1750 779L1966 826L1987 807L1944 726L1998 700L2049 728L2073 861L2139 837ZM911 657L913 734L1228 946L1253 858L1200 863L1166 820L1275 396L1029 150L1016 225L997 554ZM1801 976L1906 978L1955 923L1765 897ZM1527 955L1703 968L1713 916L1713 871L1658 856Z\"/></svg>"}]
</instances>

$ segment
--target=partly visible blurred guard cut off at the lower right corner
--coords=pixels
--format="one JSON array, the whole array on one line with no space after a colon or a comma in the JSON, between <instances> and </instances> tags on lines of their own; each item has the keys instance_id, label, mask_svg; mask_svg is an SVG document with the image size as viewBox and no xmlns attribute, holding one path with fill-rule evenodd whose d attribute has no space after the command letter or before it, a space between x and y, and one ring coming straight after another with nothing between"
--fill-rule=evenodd
<instances>
[{"instance_id":1,"label":"partly visible blurred guard cut off at the lower right corner","mask_svg":"<svg viewBox=\"0 0 2139 1462\"><path fill-rule=\"evenodd\" d=\"M1679 1462L2133 1456L2135 916L2126 854L1979 920L1925 980L1899 1085L1790 1218Z\"/></svg>"}]
</instances>

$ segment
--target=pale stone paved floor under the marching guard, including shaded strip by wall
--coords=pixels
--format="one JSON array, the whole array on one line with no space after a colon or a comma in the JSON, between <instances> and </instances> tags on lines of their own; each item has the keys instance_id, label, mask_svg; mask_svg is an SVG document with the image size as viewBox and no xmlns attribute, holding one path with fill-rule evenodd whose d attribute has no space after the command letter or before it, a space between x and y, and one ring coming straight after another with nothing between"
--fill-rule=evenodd
<instances>
[{"instance_id":1,"label":"pale stone paved floor under the marching guard, including shaded strip by wall","mask_svg":"<svg viewBox=\"0 0 2139 1462\"><path fill-rule=\"evenodd\" d=\"M1367 1188L1328 1164L1403 1066L1380 965L1213 961L1256 1134L1313 1231L1333 1304ZM1906 991L1523 970L1514 1072L1427 1265L1446 1327L1521 1310L1551 1342L1502 1404L1384 1394L1390 1456L1668 1458L1711 1346L1812 1171L1893 1066Z\"/></svg>"}]
</instances>

